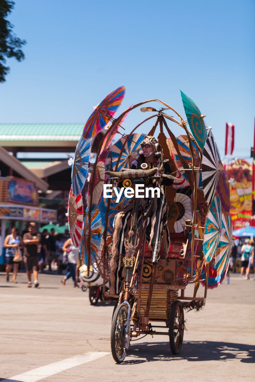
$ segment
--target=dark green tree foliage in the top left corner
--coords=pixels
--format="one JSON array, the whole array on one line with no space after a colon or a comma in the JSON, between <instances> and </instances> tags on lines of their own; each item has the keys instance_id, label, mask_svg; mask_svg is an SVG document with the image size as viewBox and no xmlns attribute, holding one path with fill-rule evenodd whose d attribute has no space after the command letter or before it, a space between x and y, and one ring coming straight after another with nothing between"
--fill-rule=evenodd
<instances>
[{"instance_id":1,"label":"dark green tree foliage in the top left corner","mask_svg":"<svg viewBox=\"0 0 255 382\"><path fill-rule=\"evenodd\" d=\"M26 40L19 39L13 33L13 25L6 19L14 5L14 1L0 0L0 82L5 81L5 76L10 71L10 67L5 66L7 58L14 57L18 61L25 58L21 47L26 44Z\"/></svg>"}]
</instances>

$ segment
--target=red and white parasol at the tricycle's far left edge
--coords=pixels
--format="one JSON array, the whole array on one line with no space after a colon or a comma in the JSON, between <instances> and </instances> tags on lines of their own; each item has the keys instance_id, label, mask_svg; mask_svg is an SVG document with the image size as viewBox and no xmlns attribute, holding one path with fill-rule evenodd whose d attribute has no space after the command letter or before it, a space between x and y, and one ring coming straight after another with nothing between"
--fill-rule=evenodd
<instances>
[{"instance_id":1,"label":"red and white parasol at the tricycle's far left edge","mask_svg":"<svg viewBox=\"0 0 255 382\"><path fill-rule=\"evenodd\" d=\"M68 201L68 225L74 246L78 248L83 228L83 201L82 194L75 196L71 187Z\"/></svg>"}]
</instances>

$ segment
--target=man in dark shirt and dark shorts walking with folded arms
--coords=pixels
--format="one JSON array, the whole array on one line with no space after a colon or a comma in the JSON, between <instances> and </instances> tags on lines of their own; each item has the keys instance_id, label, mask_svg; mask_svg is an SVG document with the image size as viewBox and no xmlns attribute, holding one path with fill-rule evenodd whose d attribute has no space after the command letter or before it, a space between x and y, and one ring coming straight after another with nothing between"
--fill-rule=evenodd
<instances>
[{"instance_id":1,"label":"man in dark shirt and dark shorts walking with folded arms","mask_svg":"<svg viewBox=\"0 0 255 382\"><path fill-rule=\"evenodd\" d=\"M31 271L33 270L34 276L34 286L37 288L38 283L38 261L39 253L38 248L39 243L41 242L41 234L36 233L36 223L31 222L28 226L28 233L23 235L23 244L24 244L24 256L26 257L26 273L28 275L28 287L31 288Z\"/></svg>"}]
</instances>

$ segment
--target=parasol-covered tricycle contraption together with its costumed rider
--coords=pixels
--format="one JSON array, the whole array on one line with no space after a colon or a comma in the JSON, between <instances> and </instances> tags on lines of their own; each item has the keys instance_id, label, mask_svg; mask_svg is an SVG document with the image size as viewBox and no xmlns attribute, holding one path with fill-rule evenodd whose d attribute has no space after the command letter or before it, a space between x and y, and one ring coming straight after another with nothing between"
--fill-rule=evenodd
<instances>
[{"instance_id":1,"label":"parasol-covered tricycle contraption together with its costumed rider","mask_svg":"<svg viewBox=\"0 0 255 382\"><path fill-rule=\"evenodd\" d=\"M115 118L124 92L120 87L109 94L88 119L72 163L69 198L70 233L88 277L94 269L103 279L103 300L116 300L111 351L118 363L132 339L145 334L168 335L172 353L180 352L184 310L199 310L208 288L222 282L232 244L229 181L206 116L181 92L186 120L157 99ZM127 133L124 119L138 107L152 115ZM150 131L136 133L152 119ZM172 126L181 130L177 137ZM96 134L97 155L90 163ZM78 203L86 180L83 214ZM191 295L185 294L188 283L194 284ZM197 297L200 283L203 296Z\"/></svg>"}]
</instances>

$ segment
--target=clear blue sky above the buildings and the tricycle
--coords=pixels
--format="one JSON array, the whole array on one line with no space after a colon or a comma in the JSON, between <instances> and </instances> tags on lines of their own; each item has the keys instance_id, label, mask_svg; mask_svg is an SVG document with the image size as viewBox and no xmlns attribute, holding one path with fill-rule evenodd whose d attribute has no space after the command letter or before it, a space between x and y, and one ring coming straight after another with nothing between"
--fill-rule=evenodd
<instances>
[{"instance_id":1,"label":"clear blue sky above the buildings and the tricycle","mask_svg":"<svg viewBox=\"0 0 255 382\"><path fill-rule=\"evenodd\" d=\"M185 117L181 89L207 115L222 157L226 122L235 125L234 156L249 157L254 10L253 0L16 0L8 19L27 40L26 59L8 61L0 122L85 123L92 107L122 85L120 112L159 98ZM137 111L124 127L130 131L145 117Z\"/></svg>"}]
</instances>

